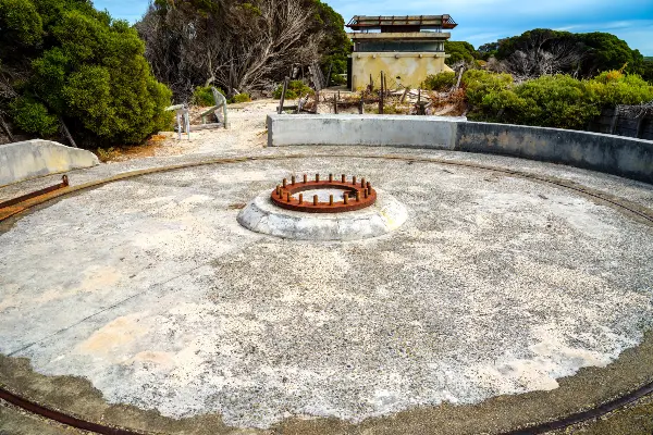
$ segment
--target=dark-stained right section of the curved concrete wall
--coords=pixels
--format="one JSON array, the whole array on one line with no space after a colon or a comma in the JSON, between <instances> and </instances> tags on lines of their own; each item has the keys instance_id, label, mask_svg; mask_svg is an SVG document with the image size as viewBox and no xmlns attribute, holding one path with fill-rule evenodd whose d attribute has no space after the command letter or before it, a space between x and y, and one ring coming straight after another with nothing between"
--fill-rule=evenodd
<instances>
[{"instance_id":1,"label":"dark-stained right section of the curved concrete wall","mask_svg":"<svg viewBox=\"0 0 653 435\"><path fill-rule=\"evenodd\" d=\"M653 141L523 125L458 123L458 151L564 163L653 184Z\"/></svg>"}]
</instances>

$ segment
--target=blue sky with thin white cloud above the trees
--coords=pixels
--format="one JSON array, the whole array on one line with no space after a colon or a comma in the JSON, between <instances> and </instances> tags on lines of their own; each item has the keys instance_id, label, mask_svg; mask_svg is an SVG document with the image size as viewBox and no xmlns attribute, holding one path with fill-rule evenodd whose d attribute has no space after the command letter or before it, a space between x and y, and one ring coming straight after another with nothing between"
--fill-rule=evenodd
<instances>
[{"instance_id":1,"label":"blue sky with thin white cloud above the trees","mask_svg":"<svg viewBox=\"0 0 653 435\"><path fill-rule=\"evenodd\" d=\"M322 0L324 1L324 0ZM354 15L441 15L458 23L452 40L475 47L533 28L574 33L607 32L653 57L653 0L326 0L345 22ZM95 0L113 17L132 23L148 0Z\"/></svg>"}]
</instances>

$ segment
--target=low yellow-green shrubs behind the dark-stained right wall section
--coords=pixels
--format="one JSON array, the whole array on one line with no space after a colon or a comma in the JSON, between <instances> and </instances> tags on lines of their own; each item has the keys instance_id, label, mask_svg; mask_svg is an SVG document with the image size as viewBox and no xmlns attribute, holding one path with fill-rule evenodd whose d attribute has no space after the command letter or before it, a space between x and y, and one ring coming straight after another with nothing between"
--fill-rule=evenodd
<instances>
[{"instance_id":1,"label":"low yellow-green shrubs behind the dark-stained right wall section","mask_svg":"<svg viewBox=\"0 0 653 435\"><path fill-rule=\"evenodd\" d=\"M653 100L653 86L619 71L592 79L542 76L520 85L507 74L470 71L463 82L472 105L469 117L486 122L583 129L603 108Z\"/></svg>"}]
</instances>

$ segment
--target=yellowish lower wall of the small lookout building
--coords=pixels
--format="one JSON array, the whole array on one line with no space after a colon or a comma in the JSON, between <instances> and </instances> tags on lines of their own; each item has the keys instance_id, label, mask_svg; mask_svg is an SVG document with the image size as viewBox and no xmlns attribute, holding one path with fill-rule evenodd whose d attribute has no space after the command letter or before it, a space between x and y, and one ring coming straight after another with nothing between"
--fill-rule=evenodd
<instances>
[{"instance_id":1,"label":"yellowish lower wall of the small lookout building","mask_svg":"<svg viewBox=\"0 0 653 435\"><path fill-rule=\"evenodd\" d=\"M387 85L401 84L418 87L430 74L453 71L445 63L444 53L432 52L355 52L352 54L352 90L361 90L370 84L381 86L381 72ZM401 77L401 78L396 78Z\"/></svg>"}]
</instances>

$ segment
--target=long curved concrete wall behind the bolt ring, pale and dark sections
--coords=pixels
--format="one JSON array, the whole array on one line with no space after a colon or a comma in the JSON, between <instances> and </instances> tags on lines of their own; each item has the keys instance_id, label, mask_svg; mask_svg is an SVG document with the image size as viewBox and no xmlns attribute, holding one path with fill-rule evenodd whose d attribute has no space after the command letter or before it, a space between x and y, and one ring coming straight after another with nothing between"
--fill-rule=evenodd
<instances>
[{"instance_id":1,"label":"long curved concrete wall behind the bolt ring, pale and dark sections","mask_svg":"<svg viewBox=\"0 0 653 435\"><path fill-rule=\"evenodd\" d=\"M460 117L270 115L268 145L366 145L448 149L568 164L653 184L653 141Z\"/></svg>"}]
</instances>

